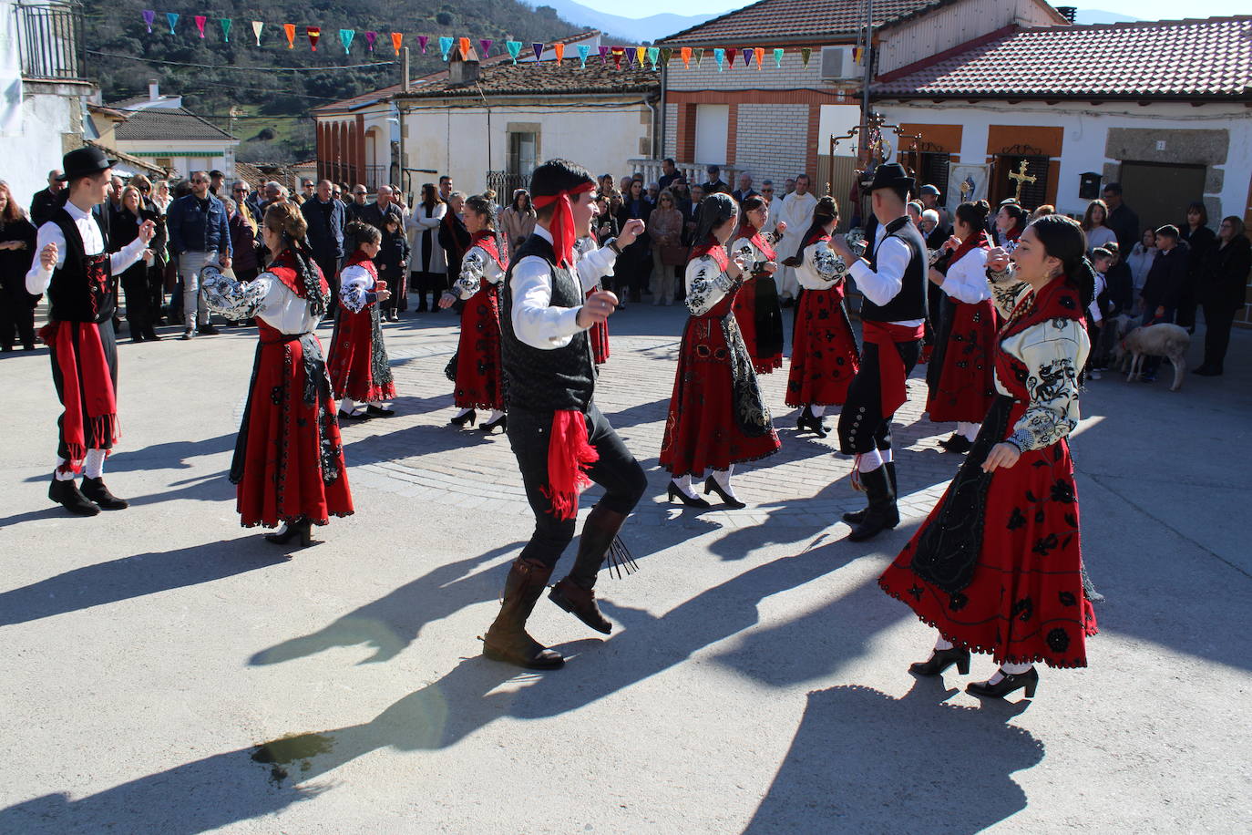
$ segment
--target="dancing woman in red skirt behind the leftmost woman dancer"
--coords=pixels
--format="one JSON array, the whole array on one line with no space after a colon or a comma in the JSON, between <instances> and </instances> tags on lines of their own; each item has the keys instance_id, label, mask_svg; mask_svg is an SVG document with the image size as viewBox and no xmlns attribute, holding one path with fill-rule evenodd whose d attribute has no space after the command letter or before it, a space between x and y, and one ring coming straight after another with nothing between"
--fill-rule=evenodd
<instances>
[{"instance_id":1,"label":"dancing woman in red skirt behind the leftmost woman dancer","mask_svg":"<svg viewBox=\"0 0 1252 835\"><path fill-rule=\"evenodd\" d=\"M378 227L353 220L344 232L357 242L339 273L339 315L327 368L331 388L339 398L339 418L393 417L384 406L396 397L396 382L383 344L383 310L379 303L391 298L387 282L378 280L374 258L383 244ZM403 273L401 273L403 290ZM366 403L364 414L357 408Z\"/></svg>"}]
</instances>

